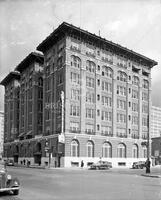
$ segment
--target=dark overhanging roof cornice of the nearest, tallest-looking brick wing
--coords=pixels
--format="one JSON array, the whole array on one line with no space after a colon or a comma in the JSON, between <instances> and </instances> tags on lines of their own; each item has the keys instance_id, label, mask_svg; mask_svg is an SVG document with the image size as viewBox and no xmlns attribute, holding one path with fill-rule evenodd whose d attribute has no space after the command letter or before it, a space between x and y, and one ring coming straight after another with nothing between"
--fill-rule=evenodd
<instances>
[{"instance_id":1,"label":"dark overhanging roof cornice of the nearest, tallest-looking brick wing","mask_svg":"<svg viewBox=\"0 0 161 200\"><path fill-rule=\"evenodd\" d=\"M45 52L49 49L54 42L58 41L60 35L65 35L66 33L77 34L82 38L88 38L90 40L94 40L96 43L105 44L109 48L113 50L113 52L121 52L123 55L128 55L132 57L134 60L138 60L139 62L147 63L150 67L157 65L158 63L155 60L152 60L144 55L141 55L135 51L132 51L126 47L123 47L119 44L116 44L112 41L108 41L105 38L102 38L98 35L92 34L88 31L85 31L79 27L76 27L67 22L63 22L57 29L55 29L45 40L43 40L37 47L37 50Z\"/></svg>"}]
</instances>

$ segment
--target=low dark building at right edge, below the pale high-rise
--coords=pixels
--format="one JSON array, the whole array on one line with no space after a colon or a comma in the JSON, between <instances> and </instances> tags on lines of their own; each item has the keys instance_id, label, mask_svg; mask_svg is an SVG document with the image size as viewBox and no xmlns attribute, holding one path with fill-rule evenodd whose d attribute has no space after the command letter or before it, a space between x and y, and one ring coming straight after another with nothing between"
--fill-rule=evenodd
<instances>
[{"instance_id":1,"label":"low dark building at right edge, below the pale high-rise","mask_svg":"<svg viewBox=\"0 0 161 200\"><path fill-rule=\"evenodd\" d=\"M161 137L152 138L153 164L161 165Z\"/></svg>"}]
</instances>

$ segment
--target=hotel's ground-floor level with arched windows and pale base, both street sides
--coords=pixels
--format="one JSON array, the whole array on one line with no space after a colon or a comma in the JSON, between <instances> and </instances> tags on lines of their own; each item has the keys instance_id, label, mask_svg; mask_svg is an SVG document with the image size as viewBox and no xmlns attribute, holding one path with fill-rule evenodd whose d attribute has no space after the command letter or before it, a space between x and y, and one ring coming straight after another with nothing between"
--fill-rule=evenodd
<instances>
[{"instance_id":1,"label":"hotel's ground-floor level with arched windows and pale base, both street sides","mask_svg":"<svg viewBox=\"0 0 161 200\"><path fill-rule=\"evenodd\" d=\"M58 135L5 143L4 159L22 165L50 167L84 167L99 160L112 167L131 167L133 162L145 161L147 148L143 140L83 134L65 134L64 143Z\"/></svg>"}]
</instances>

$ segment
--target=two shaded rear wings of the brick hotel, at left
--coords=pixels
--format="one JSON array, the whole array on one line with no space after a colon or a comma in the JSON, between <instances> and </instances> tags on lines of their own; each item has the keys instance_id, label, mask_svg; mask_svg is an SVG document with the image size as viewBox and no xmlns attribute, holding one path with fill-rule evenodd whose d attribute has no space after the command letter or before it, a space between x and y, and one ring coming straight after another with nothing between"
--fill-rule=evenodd
<instances>
[{"instance_id":1,"label":"two shaded rear wings of the brick hotel, at left","mask_svg":"<svg viewBox=\"0 0 161 200\"><path fill-rule=\"evenodd\" d=\"M39 162L40 156L32 152L35 140L29 139L42 134L43 59L39 53L29 54L1 82L5 86L4 157L15 162L34 156Z\"/></svg>"}]
</instances>

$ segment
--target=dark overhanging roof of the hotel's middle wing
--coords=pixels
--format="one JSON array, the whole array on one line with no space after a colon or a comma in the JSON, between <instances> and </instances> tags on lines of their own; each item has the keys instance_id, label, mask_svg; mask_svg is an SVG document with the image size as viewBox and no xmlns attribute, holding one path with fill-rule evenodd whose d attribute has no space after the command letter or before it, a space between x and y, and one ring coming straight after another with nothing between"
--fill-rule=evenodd
<instances>
[{"instance_id":1,"label":"dark overhanging roof of the hotel's middle wing","mask_svg":"<svg viewBox=\"0 0 161 200\"><path fill-rule=\"evenodd\" d=\"M24 71L31 63L33 63L34 61L37 61L39 63L44 62L44 56L41 53L37 53L37 52L31 52L26 58L24 58L24 60L22 60L20 62L20 64L17 65L17 67L15 68L16 71L22 72Z\"/></svg>"}]
</instances>

